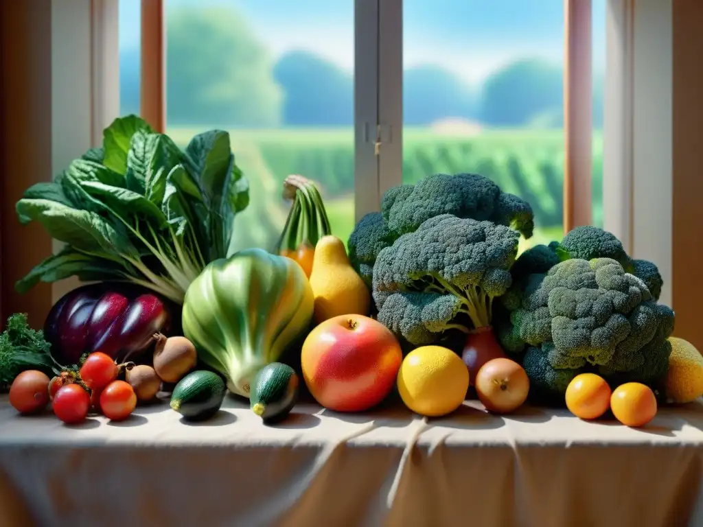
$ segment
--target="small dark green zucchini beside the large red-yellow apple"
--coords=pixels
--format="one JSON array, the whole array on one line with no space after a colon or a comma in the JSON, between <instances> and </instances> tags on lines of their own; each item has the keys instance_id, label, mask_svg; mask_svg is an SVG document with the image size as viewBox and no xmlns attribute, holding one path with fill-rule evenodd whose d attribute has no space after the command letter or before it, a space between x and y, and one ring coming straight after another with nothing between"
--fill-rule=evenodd
<instances>
[{"instance_id":1,"label":"small dark green zucchini beside the large red-yellow apple","mask_svg":"<svg viewBox=\"0 0 703 527\"><path fill-rule=\"evenodd\" d=\"M297 403L299 384L292 367L281 363L264 366L249 396L252 411L266 424L283 421Z\"/></svg>"}]
</instances>

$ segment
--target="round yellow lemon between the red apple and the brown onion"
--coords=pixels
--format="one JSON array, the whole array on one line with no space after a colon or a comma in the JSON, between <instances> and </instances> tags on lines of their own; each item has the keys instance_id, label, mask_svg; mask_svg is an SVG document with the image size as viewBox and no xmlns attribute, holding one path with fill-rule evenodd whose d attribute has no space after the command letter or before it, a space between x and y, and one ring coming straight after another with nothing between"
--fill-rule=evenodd
<instances>
[{"instance_id":1,"label":"round yellow lemon between the red apple and the brown onion","mask_svg":"<svg viewBox=\"0 0 703 527\"><path fill-rule=\"evenodd\" d=\"M459 356L441 346L414 349L400 366L398 391L405 405L427 417L453 412L469 389L469 370Z\"/></svg>"}]
</instances>

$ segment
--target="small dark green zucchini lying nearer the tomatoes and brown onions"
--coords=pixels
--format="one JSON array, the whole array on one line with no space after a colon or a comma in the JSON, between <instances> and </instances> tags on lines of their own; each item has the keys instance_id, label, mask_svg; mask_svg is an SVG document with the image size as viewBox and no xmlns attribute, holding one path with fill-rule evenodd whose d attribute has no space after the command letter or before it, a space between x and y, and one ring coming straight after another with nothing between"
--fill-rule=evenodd
<instances>
[{"instance_id":1,"label":"small dark green zucchini lying nearer the tomatoes and brown onions","mask_svg":"<svg viewBox=\"0 0 703 527\"><path fill-rule=\"evenodd\" d=\"M227 387L214 372L189 373L176 384L171 394L171 408L191 421L214 417L222 406Z\"/></svg>"}]
</instances>

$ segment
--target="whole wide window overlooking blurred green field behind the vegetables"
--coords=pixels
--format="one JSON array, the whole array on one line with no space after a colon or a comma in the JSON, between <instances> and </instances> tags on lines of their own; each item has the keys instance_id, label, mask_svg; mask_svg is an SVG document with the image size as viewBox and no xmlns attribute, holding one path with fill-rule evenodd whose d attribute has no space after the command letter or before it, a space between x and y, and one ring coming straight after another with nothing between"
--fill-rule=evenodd
<instances>
[{"instance_id":1,"label":"whole wide window overlooking blurred green field behind the vegetables","mask_svg":"<svg viewBox=\"0 0 703 527\"><path fill-rule=\"evenodd\" d=\"M606 0L576 1L587 6L580 15L592 17L579 23L593 47L569 59L588 58L586 77L592 69L593 129L588 138L583 125L571 134L592 149L593 190L584 199L592 223L602 225ZM523 248L558 239L565 228L567 4L164 0L165 131L181 145L205 129L230 131L251 186L239 219L247 226L242 245L269 247L276 239L288 212L280 183L293 173L319 184L343 240L355 219L378 209L385 188L463 171L532 204L538 228ZM121 0L120 9L124 114L140 107L140 7Z\"/></svg>"}]
</instances>

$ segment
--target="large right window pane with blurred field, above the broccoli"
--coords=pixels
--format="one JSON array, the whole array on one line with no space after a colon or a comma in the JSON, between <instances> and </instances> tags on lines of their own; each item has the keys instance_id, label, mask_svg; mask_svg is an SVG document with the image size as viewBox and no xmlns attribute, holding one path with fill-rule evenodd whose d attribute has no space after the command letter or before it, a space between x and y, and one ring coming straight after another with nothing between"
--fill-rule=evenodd
<instances>
[{"instance_id":1,"label":"large right window pane with blurred field, above the broccoli","mask_svg":"<svg viewBox=\"0 0 703 527\"><path fill-rule=\"evenodd\" d=\"M474 172L560 240L563 0L404 1L403 180Z\"/></svg>"}]
</instances>

